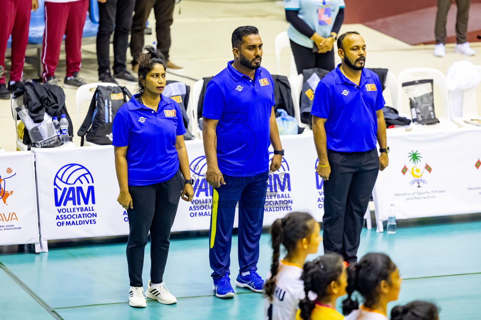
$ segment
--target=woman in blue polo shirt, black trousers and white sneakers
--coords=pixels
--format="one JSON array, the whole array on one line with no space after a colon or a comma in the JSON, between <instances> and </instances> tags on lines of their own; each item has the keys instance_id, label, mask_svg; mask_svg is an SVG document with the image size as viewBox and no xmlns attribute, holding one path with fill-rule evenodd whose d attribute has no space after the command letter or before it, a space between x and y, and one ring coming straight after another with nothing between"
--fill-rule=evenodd
<instances>
[{"instance_id":1,"label":"woman in blue polo shirt, black trousers and white sneakers","mask_svg":"<svg viewBox=\"0 0 481 320\"><path fill-rule=\"evenodd\" d=\"M142 267L147 235L151 234L151 280L146 296L163 304L177 302L163 281L170 229L179 199L192 201L186 132L177 102L162 95L164 55L153 47L139 58L139 94L123 105L113 124L117 201L127 209L130 232L127 264L129 305L147 306Z\"/></svg>"}]
</instances>

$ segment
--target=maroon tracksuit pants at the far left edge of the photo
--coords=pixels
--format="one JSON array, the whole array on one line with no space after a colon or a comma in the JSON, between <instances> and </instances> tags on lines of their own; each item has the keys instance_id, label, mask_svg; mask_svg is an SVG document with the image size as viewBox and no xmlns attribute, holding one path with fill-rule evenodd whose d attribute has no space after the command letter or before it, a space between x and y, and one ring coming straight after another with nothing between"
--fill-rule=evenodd
<instances>
[{"instance_id":1,"label":"maroon tracksuit pants at the far left edge of the photo","mask_svg":"<svg viewBox=\"0 0 481 320\"><path fill-rule=\"evenodd\" d=\"M5 69L5 50L8 37L12 35L12 66L10 81L20 81L24 69L25 50L28 43L28 26L30 24L32 0L0 0L0 64ZM5 76L0 84L5 83Z\"/></svg>"}]
</instances>

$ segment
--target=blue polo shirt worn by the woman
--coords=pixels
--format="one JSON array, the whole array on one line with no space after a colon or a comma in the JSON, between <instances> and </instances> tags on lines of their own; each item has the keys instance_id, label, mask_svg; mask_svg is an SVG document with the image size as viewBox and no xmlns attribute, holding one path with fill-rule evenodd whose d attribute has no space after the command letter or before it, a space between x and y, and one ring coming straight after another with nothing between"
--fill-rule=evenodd
<instances>
[{"instance_id":1,"label":"blue polo shirt worn by the woman","mask_svg":"<svg viewBox=\"0 0 481 320\"><path fill-rule=\"evenodd\" d=\"M134 95L115 115L112 144L127 148L128 185L148 186L167 181L179 169L176 137L186 131L180 108L161 95L157 112Z\"/></svg>"}]
</instances>

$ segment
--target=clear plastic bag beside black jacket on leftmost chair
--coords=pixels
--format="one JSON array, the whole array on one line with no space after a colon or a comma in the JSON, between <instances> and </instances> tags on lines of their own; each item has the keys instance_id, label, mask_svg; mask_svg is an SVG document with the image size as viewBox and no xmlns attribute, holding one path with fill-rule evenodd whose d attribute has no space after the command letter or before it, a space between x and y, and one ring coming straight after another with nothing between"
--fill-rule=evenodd
<instances>
[{"instance_id":1,"label":"clear plastic bag beside black jacket on leftmost chair","mask_svg":"<svg viewBox=\"0 0 481 320\"><path fill-rule=\"evenodd\" d=\"M15 111L17 111L18 116L22 119L28 131L32 146L37 148L50 148L62 144L57 135L57 130L55 130L53 126L52 117L49 116L47 112L45 112L42 122L35 123L28 115L28 108L25 107L25 105L15 108Z\"/></svg>"}]
</instances>

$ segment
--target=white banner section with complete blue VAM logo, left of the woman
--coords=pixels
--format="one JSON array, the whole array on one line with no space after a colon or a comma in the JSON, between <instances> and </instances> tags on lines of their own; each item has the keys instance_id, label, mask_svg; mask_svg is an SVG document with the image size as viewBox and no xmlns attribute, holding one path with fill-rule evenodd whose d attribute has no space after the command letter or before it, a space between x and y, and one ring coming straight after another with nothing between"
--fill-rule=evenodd
<instances>
[{"instance_id":1,"label":"white banner section with complete blue VAM logo, left of the woman","mask_svg":"<svg viewBox=\"0 0 481 320\"><path fill-rule=\"evenodd\" d=\"M128 234L114 147L35 148L42 240Z\"/></svg>"}]
</instances>

